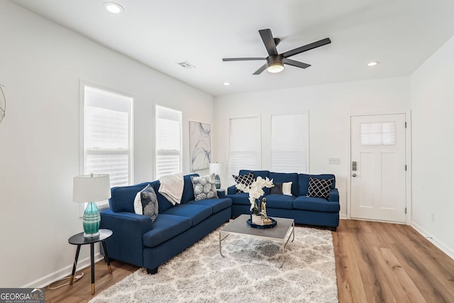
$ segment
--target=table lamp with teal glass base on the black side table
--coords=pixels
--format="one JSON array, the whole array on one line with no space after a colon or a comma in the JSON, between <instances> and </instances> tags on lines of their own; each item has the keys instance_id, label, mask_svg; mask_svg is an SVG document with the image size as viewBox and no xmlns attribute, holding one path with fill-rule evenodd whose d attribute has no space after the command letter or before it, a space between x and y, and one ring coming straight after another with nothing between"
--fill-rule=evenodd
<instances>
[{"instance_id":1,"label":"table lamp with teal glass base on the black side table","mask_svg":"<svg viewBox=\"0 0 454 303\"><path fill-rule=\"evenodd\" d=\"M88 203L82 219L84 225L84 237L92 238L99 236L98 201L104 201L111 197L111 182L109 175L90 174L74 177L72 187L72 201L76 203Z\"/></svg>"}]
</instances>

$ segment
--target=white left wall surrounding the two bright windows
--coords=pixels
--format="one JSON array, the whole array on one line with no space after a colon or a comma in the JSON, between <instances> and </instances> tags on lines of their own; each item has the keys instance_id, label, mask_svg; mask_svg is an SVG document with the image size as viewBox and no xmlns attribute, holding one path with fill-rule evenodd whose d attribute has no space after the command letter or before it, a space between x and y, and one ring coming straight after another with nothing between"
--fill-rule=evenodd
<instances>
[{"instance_id":1,"label":"white left wall surrounding the two bright windows","mask_svg":"<svg viewBox=\"0 0 454 303\"><path fill-rule=\"evenodd\" d=\"M72 177L79 175L79 81L134 98L135 182L153 180L154 102L213 125L213 97L92 40L0 1L0 287L38 287L70 273L82 231ZM80 260L89 255L83 247Z\"/></svg>"}]
</instances>

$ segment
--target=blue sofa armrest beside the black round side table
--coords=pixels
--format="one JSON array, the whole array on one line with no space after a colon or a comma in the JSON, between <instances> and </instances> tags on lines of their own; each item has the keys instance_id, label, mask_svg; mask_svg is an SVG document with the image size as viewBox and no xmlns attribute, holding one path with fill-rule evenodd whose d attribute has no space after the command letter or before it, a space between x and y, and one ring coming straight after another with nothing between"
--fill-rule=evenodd
<instances>
[{"instance_id":1,"label":"blue sofa armrest beside the black round side table","mask_svg":"<svg viewBox=\"0 0 454 303\"><path fill-rule=\"evenodd\" d=\"M152 229L150 216L127 211L101 211L101 228L114 232L106 240L109 258L143 266L143 234Z\"/></svg>"}]
</instances>

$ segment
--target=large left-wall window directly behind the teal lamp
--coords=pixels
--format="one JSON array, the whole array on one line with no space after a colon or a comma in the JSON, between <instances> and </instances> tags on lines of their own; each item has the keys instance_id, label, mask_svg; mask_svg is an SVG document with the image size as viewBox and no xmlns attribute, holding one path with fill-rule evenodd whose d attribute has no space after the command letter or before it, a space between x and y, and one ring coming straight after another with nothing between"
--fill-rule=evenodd
<instances>
[{"instance_id":1,"label":"large left-wall window directly behind the teal lamp","mask_svg":"<svg viewBox=\"0 0 454 303\"><path fill-rule=\"evenodd\" d=\"M130 97L84 85L84 174L109 174L111 187L132 180Z\"/></svg>"}]
</instances>

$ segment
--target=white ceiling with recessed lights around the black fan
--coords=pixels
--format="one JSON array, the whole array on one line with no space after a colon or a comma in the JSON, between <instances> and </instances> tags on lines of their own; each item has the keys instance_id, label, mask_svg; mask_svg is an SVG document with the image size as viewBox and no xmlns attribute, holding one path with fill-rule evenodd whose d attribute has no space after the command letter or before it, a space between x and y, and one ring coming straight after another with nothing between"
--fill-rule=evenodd
<instances>
[{"instance_id":1,"label":"white ceiling with recessed lights around the black fan","mask_svg":"<svg viewBox=\"0 0 454 303\"><path fill-rule=\"evenodd\" d=\"M454 35L453 0L112 0L118 15L107 0L12 1L215 96L410 75ZM279 53L332 43L291 57L311 67L279 74L252 75L262 61L221 60L266 57L262 28L282 39Z\"/></svg>"}]
</instances>

